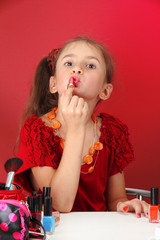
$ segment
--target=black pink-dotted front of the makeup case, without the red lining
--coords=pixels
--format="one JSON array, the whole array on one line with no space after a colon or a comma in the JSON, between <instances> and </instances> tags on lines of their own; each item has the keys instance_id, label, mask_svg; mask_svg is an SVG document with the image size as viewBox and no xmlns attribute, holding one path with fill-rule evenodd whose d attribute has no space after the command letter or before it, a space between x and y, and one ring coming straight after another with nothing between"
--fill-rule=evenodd
<instances>
[{"instance_id":1,"label":"black pink-dotted front of the makeup case, without the red lining","mask_svg":"<svg viewBox=\"0 0 160 240\"><path fill-rule=\"evenodd\" d=\"M43 229L43 234L29 233L31 221ZM46 239L41 222L30 215L25 202L14 199L0 200L0 239L25 240L29 238Z\"/></svg>"}]
</instances>

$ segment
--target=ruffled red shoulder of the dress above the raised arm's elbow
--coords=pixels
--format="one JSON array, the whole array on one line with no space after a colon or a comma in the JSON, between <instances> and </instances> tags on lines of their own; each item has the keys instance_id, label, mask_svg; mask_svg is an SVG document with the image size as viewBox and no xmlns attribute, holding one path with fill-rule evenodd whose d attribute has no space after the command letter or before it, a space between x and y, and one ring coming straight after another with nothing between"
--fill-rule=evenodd
<instances>
[{"instance_id":1,"label":"ruffled red shoulder of the dress above the raised arm's elbow","mask_svg":"<svg viewBox=\"0 0 160 240\"><path fill-rule=\"evenodd\" d=\"M54 135L53 128L46 125L43 117L32 115L21 128L19 156L31 162L32 166L57 168L60 140Z\"/></svg>"}]
</instances>

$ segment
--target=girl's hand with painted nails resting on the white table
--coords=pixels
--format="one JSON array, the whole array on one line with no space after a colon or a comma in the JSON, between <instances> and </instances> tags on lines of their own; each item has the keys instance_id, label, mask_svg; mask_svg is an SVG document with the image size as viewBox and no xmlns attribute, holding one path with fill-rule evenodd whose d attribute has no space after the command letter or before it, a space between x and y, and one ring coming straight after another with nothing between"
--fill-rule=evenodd
<instances>
[{"instance_id":1,"label":"girl's hand with painted nails resting on the white table","mask_svg":"<svg viewBox=\"0 0 160 240\"><path fill-rule=\"evenodd\" d=\"M117 204L117 212L135 212L138 218L141 217L141 213L144 213L148 217L148 207L149 204L145 201L134 198L130 201L119 202Z\"/></svg>"}]
</instances>

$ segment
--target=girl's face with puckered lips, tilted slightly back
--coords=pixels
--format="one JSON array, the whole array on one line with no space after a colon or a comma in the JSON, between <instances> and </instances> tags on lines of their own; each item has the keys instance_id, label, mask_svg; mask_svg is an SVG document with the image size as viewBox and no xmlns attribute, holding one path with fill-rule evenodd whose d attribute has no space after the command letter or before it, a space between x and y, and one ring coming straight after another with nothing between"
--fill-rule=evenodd
<instances>
[{"instance_id":1,"label":"girl's face with puckered lips, tilted slightly back","mask_svg":"<svg viewBox=\"0 0 160 240\"><path fill-rule=\"evenodd\" d=\"M66 90L70 77L74 76L79 78L79 83L73 94L85 100L97 101L107 84L106 66L100 50L82 41L67 45L58 58L54 76L59 94Z\"/></svg>"}]
</instances>

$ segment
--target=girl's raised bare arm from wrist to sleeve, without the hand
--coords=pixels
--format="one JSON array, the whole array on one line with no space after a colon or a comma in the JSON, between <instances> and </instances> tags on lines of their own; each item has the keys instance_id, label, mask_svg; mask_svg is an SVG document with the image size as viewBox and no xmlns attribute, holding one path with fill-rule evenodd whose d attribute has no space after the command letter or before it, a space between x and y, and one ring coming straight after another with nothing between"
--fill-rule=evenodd
<instances>
[{"instance_id":1,"label":"girl's raised bare arm from wrist to sleeve, without the hand","mask_svg":"<svg viewBox=\"0 0 160 240\"><path fill-rule=\"evenodd\" d=\"M68 139L67 139L68 138ZM51 187L53 208L60 212L70 212L79 184L81 168L81 146L83 135L74 131L65 140L64 152L57 170L52 167L33 167L32 182L37 189Z\"/></svg>"}]
</instances>

